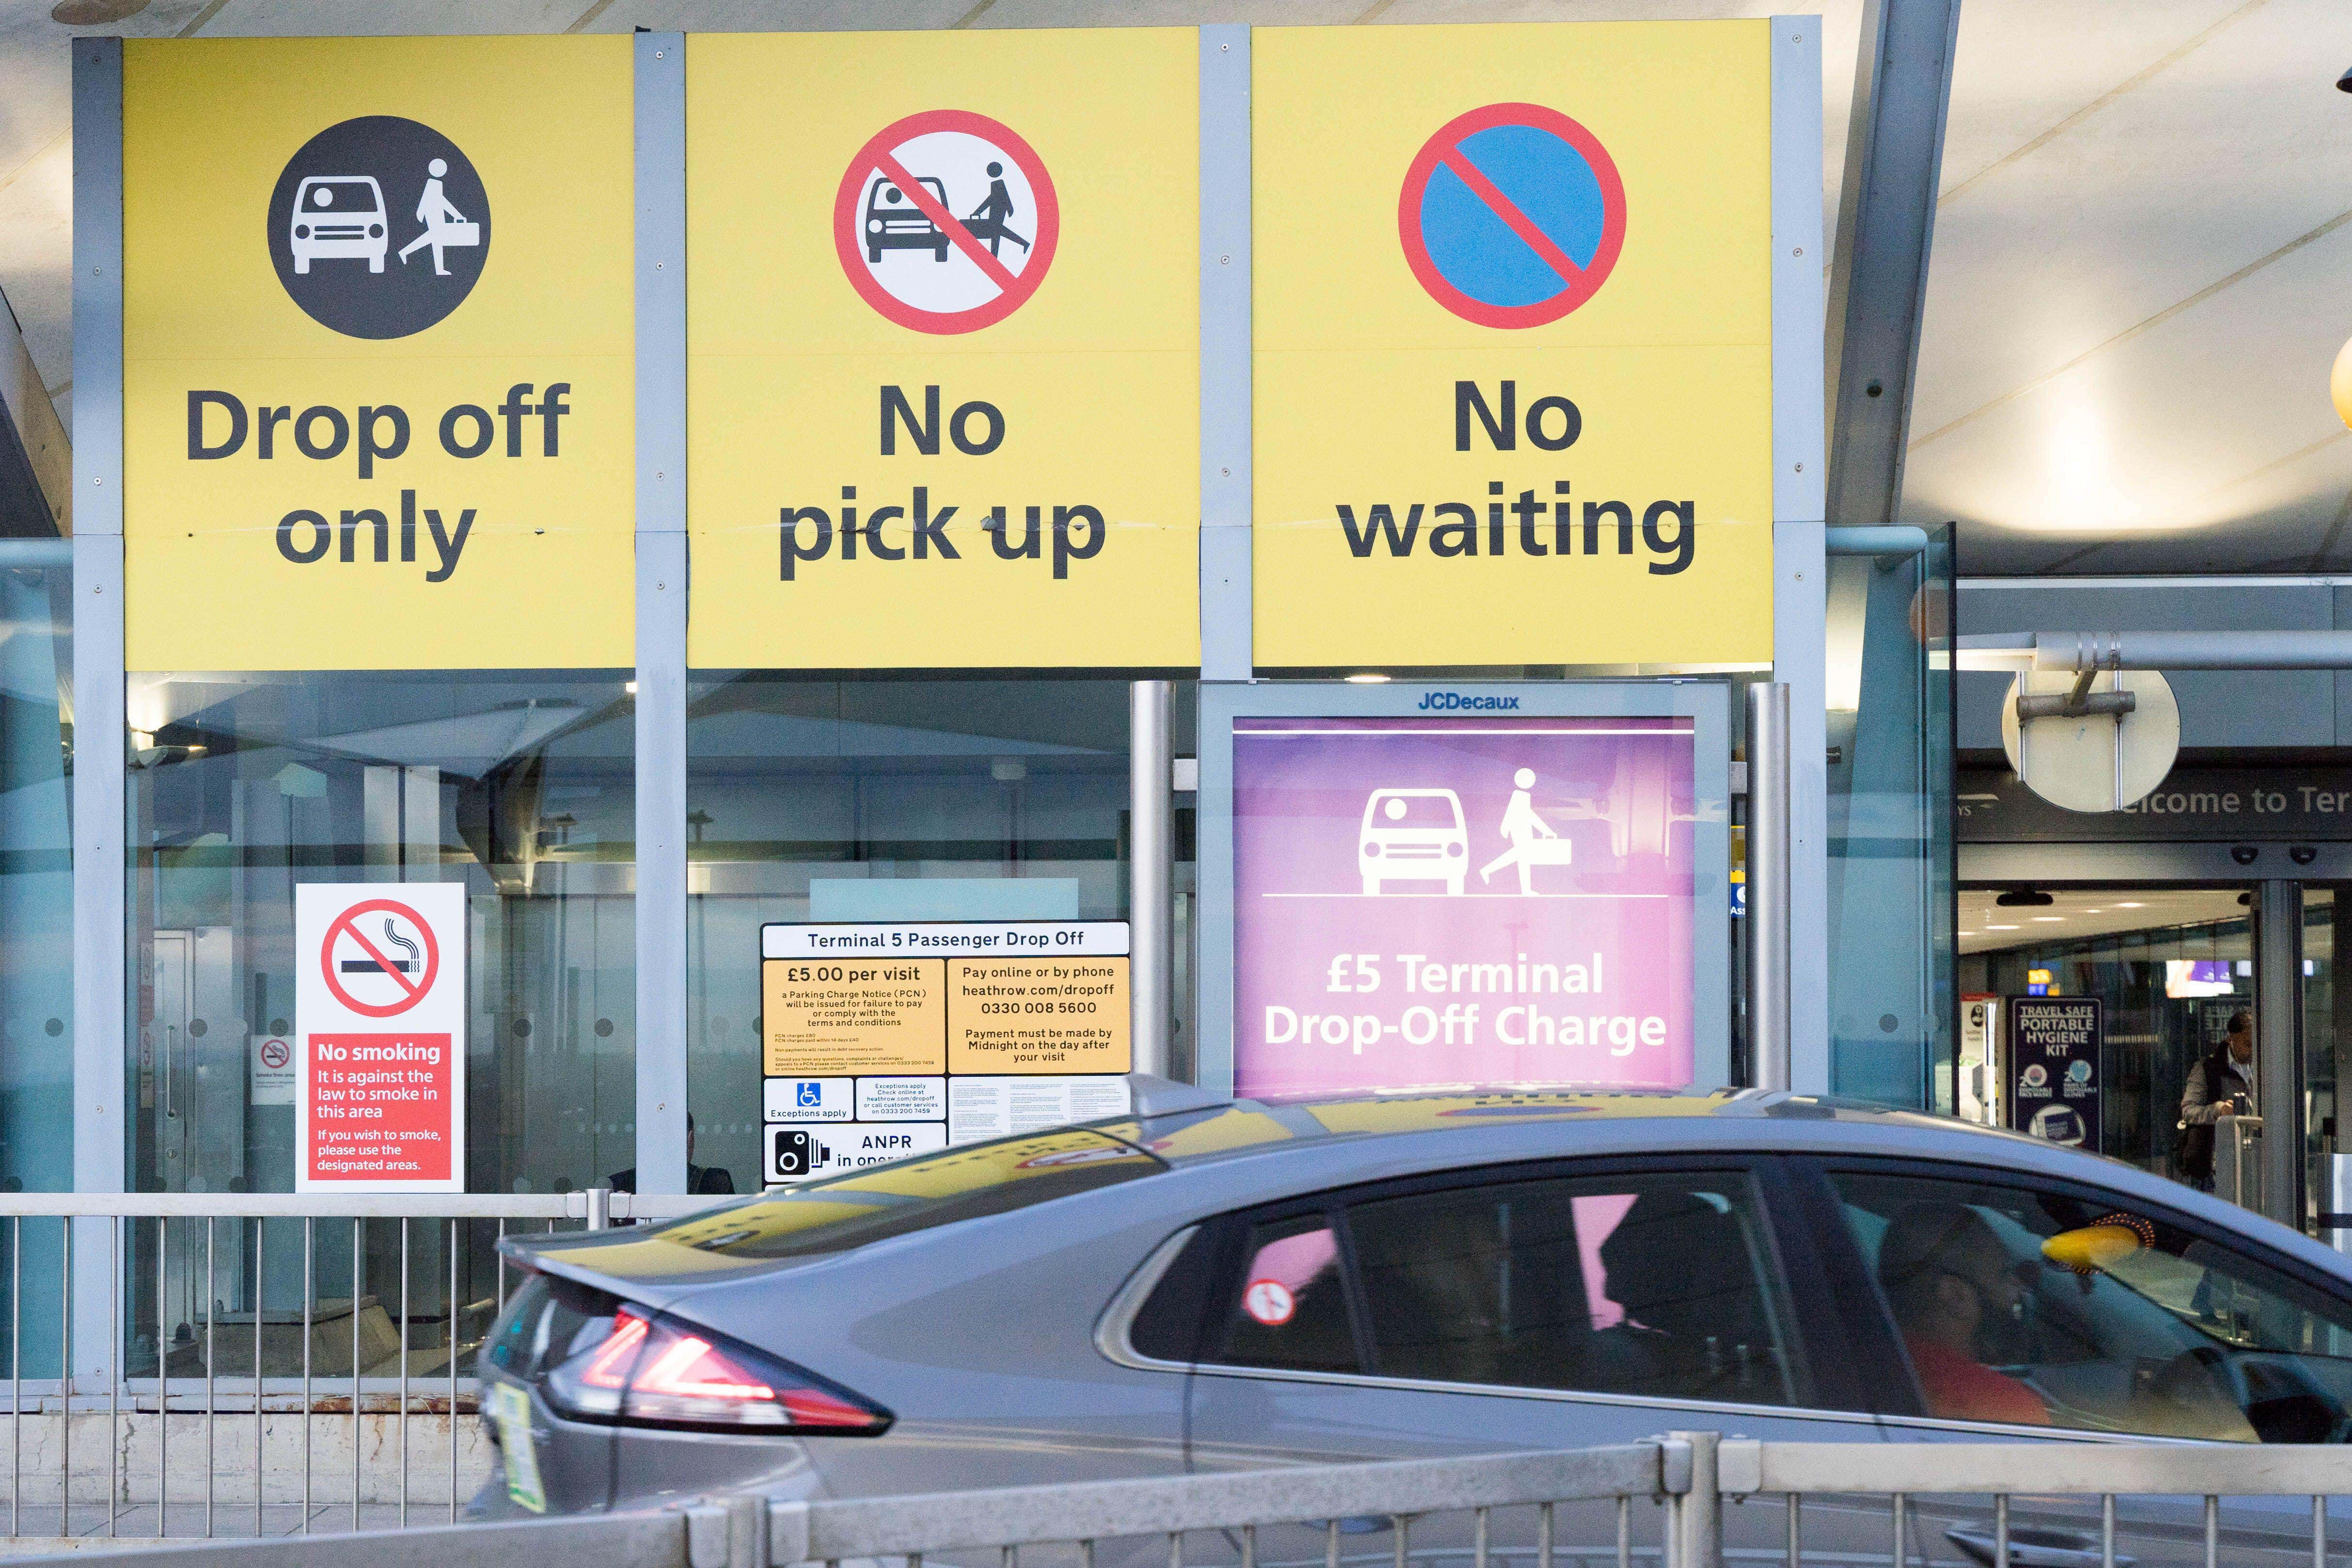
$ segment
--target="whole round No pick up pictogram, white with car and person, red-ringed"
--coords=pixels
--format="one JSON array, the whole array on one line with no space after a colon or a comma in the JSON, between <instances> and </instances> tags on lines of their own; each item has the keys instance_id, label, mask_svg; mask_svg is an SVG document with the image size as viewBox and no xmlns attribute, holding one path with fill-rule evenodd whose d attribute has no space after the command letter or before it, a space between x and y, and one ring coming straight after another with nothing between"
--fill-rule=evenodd
<instances>
[{"instance_id":1,"label":"whole round No pick up pictogram, white with car and person, red-ringed","mask_svg":"<svg viewBox=\"0 0 2352 1568\"><path fill-rule=\"evenodd\" d=\"M1061 202L1009 125L934 108L882 127L842 172L833 244L858 296L915 331L976 331L1054 263Z\"/></svg>"}]
</instances>

